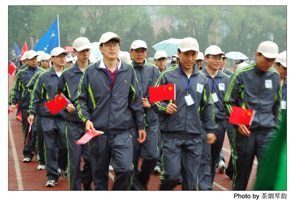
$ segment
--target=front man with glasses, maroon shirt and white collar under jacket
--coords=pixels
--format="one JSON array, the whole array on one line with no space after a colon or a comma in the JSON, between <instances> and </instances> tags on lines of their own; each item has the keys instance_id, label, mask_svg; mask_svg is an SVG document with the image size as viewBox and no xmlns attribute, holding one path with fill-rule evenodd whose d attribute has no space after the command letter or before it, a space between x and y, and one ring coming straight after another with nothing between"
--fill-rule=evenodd
<instances>
[{"instance_id":1,"label":"front man with glasses, maroon shirt and white collar under jacket","mask_svg":"<svg viewBox=\"0 0 295 200\"><path fill-rule=\"evenodd\" d=\"M75 101L86 132L104 132L89 141L94 190L108 190L111 156L116 175L113 190L130 189L134 124L139 129L137 141L144 142L146 136L140 87L132 66L118 57L120 41L112 32L101 35L103 59L85 69Z\"/></svg>"}]
</instances>

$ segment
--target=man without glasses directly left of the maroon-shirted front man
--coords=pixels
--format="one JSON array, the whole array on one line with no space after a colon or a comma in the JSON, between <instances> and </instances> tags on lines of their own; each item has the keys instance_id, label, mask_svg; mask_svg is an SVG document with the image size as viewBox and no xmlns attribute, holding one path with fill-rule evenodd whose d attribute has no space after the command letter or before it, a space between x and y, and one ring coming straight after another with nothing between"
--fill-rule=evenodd
<instances>
[{"instance_id":1,"label":"man without glasses directly left of the maroon-shirted front man","mask_svg":"<svg viewBox=\"0 0 295 200\"><path fill-rule=\"evenodd\" d=\"M77 56L77 62L63 70L56 88L56 93L63 93L70 102L63 115L66 127L65 136L68 142L70 190L81 190L81 182L84 190L92 190L89 143L83 145L75 143L85 134L85 124L73 106L83 71L91 64L89 61L90 49L92 46L85 37L79 37L73 42L73 53ZM83 171L80 169L81 156L85 162Z\"/></svg>"}]
</instances>

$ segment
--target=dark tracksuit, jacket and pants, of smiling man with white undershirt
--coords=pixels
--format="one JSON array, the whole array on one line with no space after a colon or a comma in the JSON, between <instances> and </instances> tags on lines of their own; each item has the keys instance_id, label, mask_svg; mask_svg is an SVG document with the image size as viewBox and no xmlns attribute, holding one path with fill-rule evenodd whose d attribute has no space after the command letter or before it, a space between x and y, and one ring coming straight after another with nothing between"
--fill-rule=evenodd
<instances>
[{"instance_id":1,"label":"dark tracksuit, jacket and pants, of smiling man with white undershirt","mask_svg":"<svg viewBox=\"0 0 295 200\"><path fill-rule=\"evenodd\" d=\"M64 68L65 69L65 68ZM56 114L52 114L45 106L46 102L54 99L56 95L56 86L59 77L54 68L45 69L35 82L33 94L30 99L28 113L42 117L41 126L45 140L46 170L47 181L58 181L58 167L65 170L68 165L67 146L65 139L65 120L63 119L63 109ZM39 106L39 104L41 105ZM56 149L58 146L58 152Z\"/></svg>"}]
</instances>

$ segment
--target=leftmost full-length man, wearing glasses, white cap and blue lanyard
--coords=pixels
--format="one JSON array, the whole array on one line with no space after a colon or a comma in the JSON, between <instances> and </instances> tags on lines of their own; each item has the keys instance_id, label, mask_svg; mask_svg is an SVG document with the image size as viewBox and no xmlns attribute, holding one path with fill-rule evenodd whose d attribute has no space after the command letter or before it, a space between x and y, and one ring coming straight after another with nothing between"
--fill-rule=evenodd
<instances>
[{"instance_id":1,"label":"leftmost full-length man, wearing glasses, white cap and blue lanyard","mask_svg":"<svg viewBox=\"0 0 295 200\"><path fill-rule=\"evenodd\" d=\"M26 120L28 118L28 109L30 104L30 94L28 89L25 88L25 86L29 83L29 81L32 79L34 74L36 74L38 71L42 71L43 69L41 67L37 66L37 53L33 50L28 51L26 54L26 61L27 64L25 64L25 67L17 72L16 77L14 79L14 83L11 88L10 92L10 99L9 103L11 105L11 111L14 112L14 109L16 108L17 102L19 102L19 109L22 112L22 133L24 137L24 160L23 162L30 162L34 156L32 151L35 151L34 149L34 138L33 138L33 127L31 128L30 133L29 132L29 123ZM28 138L29 135L29 138Z\"/></svg>"}]
</instances>

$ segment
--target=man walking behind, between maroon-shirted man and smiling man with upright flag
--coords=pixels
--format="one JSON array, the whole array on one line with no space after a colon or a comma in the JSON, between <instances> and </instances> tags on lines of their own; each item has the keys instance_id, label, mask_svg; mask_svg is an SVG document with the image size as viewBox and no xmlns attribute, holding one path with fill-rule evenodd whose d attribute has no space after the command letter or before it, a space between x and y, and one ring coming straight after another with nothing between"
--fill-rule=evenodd
<instances>
[{"instance_id":1,"label":"man walking behind, between maroon-shirted man and smiling man with upright flag","mask_svg":"<svg viewBox=\"0 0 295 200\"><path fill-rule=\"evenodd\" d=\"M145 56L148 53L148 48L145 41L135 40L131 44L130 55L132 56L132 66L135 70L138 84L142 92L142 103L145 114L145 131L147 137L145 142L139 144L136 141L138 137L135 134L133 137L133 173L134 179L132 183L132 190L148 190L148 181L150 173L153 171L157 158L158 150L158 114L153 109L150 109L149 86L154 86L155 81L160 74L160 70L154 64L146 63ZM136 131L137 132L137 127ZM141 171L138 171L138 160L142 158Z\"/></svg>"}]
</instances>

